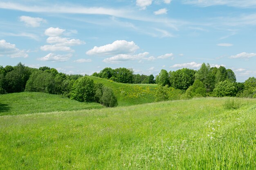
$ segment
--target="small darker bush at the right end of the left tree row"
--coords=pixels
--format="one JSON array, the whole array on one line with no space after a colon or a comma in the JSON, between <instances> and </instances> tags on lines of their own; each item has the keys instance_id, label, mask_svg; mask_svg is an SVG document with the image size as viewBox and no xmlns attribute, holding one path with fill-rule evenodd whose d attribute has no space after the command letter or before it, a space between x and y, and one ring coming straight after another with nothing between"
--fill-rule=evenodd
<instances>
[{"instance_id":1,"label":"small darker bush at the right end of the left tree row","mask_svg":"<svg viewBox=\"0 0 256 170\"><path fill-rule=\"evenodd\" d=\"M100 102L106 107L116 107L118 105L117 97L115 97L114 92L109 87L103 87L103 94Z\"/></svg>"}]
</instances>

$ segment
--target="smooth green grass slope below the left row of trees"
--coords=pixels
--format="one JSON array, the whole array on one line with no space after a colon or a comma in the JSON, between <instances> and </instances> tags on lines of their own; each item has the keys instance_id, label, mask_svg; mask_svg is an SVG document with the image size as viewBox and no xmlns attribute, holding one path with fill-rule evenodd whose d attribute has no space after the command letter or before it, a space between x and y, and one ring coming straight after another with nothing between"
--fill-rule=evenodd
<instances>
[{"instance_id":1,"label":"smooth green grass slope below the left row of trees","mask_svg":"<svg viewBox=\"0 0 256 170\"><path fill-rule=\"evenodd\" d=\"M92 108L103 108L103 106L97 103L81 103L47 93L22 92L0 95L0 116Z\"/></svg>"}]
</instances>

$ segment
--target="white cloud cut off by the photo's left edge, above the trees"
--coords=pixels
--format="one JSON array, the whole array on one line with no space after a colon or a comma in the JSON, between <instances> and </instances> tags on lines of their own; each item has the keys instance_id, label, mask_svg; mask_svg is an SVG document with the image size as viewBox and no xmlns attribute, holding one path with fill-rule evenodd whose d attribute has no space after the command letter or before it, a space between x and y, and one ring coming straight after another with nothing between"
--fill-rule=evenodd
<instances>
[{"instance_id":1,"label":"white cloud cut off by the photo's left edge, above the trees","mask_svg":"<svg viewBox=\"0 0 256 170\"><path fill-rule=\"evenodd\" d=\"M17 49L15 44L11 44L5 40L0 40L0 56L8 56L11 58L28 57L24 50Z\"/></svg>"}]
</instances>

